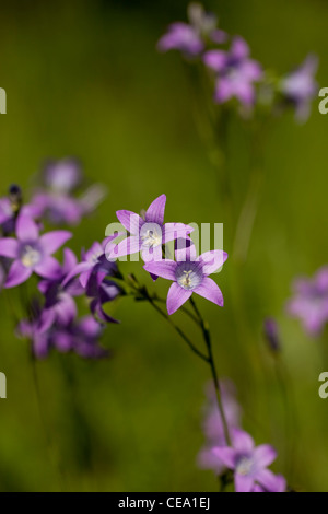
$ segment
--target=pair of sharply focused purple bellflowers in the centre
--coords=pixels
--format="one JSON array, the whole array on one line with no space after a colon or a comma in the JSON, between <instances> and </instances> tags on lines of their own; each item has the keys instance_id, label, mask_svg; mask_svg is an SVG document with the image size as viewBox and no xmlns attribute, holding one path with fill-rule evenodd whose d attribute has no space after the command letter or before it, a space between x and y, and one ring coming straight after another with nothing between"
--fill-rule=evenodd
<instances>
[{"instance_id":1,"label":"pair of sharply focused purple bellflowers in the centre","mask_svg":"<svg viewBox=\"0 0 328 514\"><path fill-rule=\"evenodd\" d=\"M184 223L165 223L166 196L156 198L143 218L131 211L117 211L117 218L129 236L115 245L109 259L141 252L143 268L153 280L157 277L173 283L167 294L167 312L174 314L192 293L223 306L223 295L219 285L209 278L227 258L223 250L207 252L199 257L189 234L192 227ZM166 258L166 243L175 242L175 260ZM164 258L163 258L163 253Z\"/></svg>"}]
</instances>

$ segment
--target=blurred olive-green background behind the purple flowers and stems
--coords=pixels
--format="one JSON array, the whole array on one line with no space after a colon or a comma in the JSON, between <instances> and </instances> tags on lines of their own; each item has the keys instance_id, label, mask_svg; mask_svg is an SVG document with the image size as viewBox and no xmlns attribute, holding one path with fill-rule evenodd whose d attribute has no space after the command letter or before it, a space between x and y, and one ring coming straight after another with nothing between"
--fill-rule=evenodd
<instances>
[{"instance_id":1,"label":"blurred olive-green background behind the purple flowers and stems","mask_svg":"<svg viewBox=\"0 0 328 514\"><path fill-rule=\"evenodd\" d=\"M80 157L86 176L106 184L109 192L75 229L71 247L77 253L103 238L117 209L139 211L163 192L168 221L224 218L186 69L178 55L155 49L166 25L185 20L187 3L1 4L0 86L8 114L0 117L0 192L13 182L28 190L45 157ZM206 7L219 14L221 27L249 42L266 68L282 73L308 51L318 54L318 81L328 85L327 2L222 0ZM294 276L314 273L328 249L328 116L317 107L315 101L302 127L292 114L277 120L267 141L267 177L243 268L243 320L232 305L230 260L215 276L225 307L198 303L212 327L220 373L237 386L244 427L258 443L277 446L273 469L293 488L327 491L328 400L318 396L318 375L328 369L327 334L314 342L283 313ZM236 195L238 187L243 194L248 173L245 152L244 129L235 122ZM224 231L229 253L230 226ZM141 266L124 269L133 269L165 295L168 284L152 285ZM4 293L0 308L0 371L8 378L8 399L0 400L1 491L218 490L213 474L196 466L208 370L149 305L128 299L117 304L115 315L122 323L109 326L104 339L114 350L112 360L52 353L37 363L42 413L26 343L14 336ZM261 337L267 315L277 317L283 339L288 396L296 417L289 439L285 398ZM198 337L186 318L177 314L176 319ZM292 469L286 463L291 445Z\"/></svg>"}]
</instances>

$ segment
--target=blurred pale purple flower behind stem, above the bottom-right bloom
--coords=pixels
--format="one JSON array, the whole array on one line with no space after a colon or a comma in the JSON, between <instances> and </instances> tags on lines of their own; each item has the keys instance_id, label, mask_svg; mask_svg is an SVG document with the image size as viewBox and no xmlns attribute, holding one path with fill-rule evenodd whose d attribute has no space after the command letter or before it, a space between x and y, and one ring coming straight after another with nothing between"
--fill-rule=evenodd
<instances>
[{"instance_id":1,"label":"blurred pale purple flower behind stem, above the bottom-right bloom","mask_svg":"<svg viewBox=\"0 0 328 514\"><path fill-rule=\"evenodd\" d=\"M241 425L241 407L236 400L236 392L234 384L230 381L220 381L221 397L223 404L224 416L229 430ZM202 429L207 437L206 445L198 455L198 465L202 469L212 469L216 475L221 475L224 470L224 464L221 463L212 453L213 446L224 446L225 436L218 408L218 400L213 385L211 384L207 392L208 405L204 410L204 419Z\"/></svg>"}]
</instances>

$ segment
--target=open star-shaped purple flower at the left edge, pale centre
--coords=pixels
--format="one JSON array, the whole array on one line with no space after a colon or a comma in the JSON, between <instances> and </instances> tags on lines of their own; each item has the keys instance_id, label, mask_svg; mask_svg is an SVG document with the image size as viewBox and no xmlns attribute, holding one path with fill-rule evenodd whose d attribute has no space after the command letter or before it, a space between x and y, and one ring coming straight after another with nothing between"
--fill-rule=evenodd
<instances>
[{"instance_id":1,"label":"open star-shaped purple flower at the left edge, pale centre","mask_svg":"<svg viewBox=\"0 0 328 514\"><path fill-rule=\"evenodd\" d=\"M60 265L51 254L71 237L70 232L55 231L39 236L36 223L22 213L16 221L16 240L0 240L0 255L13 259L5 288L25 282L33 272L46 279L60 276Z\"/></svg>"}]
</instances>

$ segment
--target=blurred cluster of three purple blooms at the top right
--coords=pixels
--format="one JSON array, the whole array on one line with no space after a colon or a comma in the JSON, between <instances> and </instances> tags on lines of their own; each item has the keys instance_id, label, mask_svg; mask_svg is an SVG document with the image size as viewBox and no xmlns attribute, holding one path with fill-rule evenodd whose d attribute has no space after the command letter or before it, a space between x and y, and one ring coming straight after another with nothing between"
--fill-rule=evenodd
<instances>
[{"instance_id":1,"label":"blurred cluster of three purple blooms at the top right","mask_svg":"<svg viewBox=\"0 0 328 514\"><path fill-rule=\"evenodd\" d=\"M284 77L273 77L250 58L247 43L241 36L230 37L216 27L216 17L198 3L188 8L188 23L173 23L159 40L160 51L178 50L188 61L206 66L214 81L214 102L225 104L235 98L241 113L265 106L279 113L284 106L295 108L295 117L304 121L311 102L318 91L314 75L317 57L309 55L304 63Z\"/></svg>"}]
</instances>

